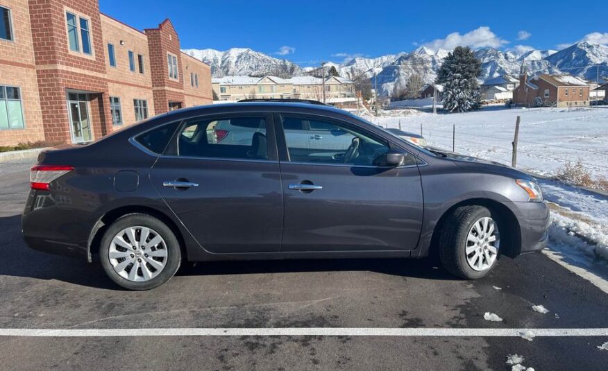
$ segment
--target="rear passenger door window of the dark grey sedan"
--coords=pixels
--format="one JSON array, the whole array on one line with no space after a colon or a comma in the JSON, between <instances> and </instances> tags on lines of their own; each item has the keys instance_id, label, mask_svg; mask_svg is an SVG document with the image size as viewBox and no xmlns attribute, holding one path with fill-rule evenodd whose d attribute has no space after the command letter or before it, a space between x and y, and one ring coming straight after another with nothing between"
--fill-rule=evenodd
<instances>
[{"instance_id":1,"label":"rear passenger door window of the dark grey sedan","mask_svg":"<svg viewBox=\"0 0 608 371\"><path fill-rule=\"evenodd\" d=\"M268 159L264 117L201 119L186 123L178 136L178 155Z\"/></svg>"}]
</instances>

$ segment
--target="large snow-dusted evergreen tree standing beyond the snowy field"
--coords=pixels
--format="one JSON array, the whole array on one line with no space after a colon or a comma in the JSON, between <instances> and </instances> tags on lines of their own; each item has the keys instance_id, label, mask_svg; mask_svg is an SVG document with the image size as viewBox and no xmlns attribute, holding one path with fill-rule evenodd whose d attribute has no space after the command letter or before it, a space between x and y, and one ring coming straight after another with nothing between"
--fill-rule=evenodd
<instances>
[{"instance_id":1,"label":"large snow-dusted evergreen tree standing beyond the snowy field","mask_svg":"<svg viewBox=\"0 0 608 371\"><path fill-rule=\"evenodd\" d=\"M481 61L468 46L457 46L448 54L437 74L437 83L444 85L444 108L450 112L477 110L481 92L477 76Z\"/></svg>"}]
</instances>

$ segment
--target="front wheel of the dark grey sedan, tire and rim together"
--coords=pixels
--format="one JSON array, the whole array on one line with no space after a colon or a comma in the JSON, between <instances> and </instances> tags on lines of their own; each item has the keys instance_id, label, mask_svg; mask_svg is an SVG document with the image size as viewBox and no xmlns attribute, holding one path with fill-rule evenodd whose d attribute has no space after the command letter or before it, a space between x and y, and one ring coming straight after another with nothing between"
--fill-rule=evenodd
<instances>
[{"instance_id":1,"label":"front wheel of the dark grey sedan, tire and rim together","mask_svg":"<svg viewBox=\"0 0 608 371\"><path fill-rule=\"evenodd\" d=\"M487 207L458 207L441 231L439 256L453 275L466 279L486 276L500 255L500 219Z\"/></svg>"}]
</instances>

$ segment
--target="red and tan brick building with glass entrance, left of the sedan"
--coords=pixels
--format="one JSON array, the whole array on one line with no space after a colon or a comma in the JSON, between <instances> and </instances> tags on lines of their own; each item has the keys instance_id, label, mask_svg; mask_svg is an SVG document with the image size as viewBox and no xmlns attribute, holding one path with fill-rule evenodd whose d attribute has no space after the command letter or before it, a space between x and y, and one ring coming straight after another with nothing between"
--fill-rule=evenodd
<instances>
[{"instance_id":1,"label":"red and tan brick building with glass entrance, left of the sedan","mask_svg":"<svg viewBox=\"0 0 608 371\"><path fill-rule=\"evenodd\" d=\"M0 0L0 145L90 141L211 102L210 67L169 19L142 32L97 0Z\"/></svg>"}]
</instances>

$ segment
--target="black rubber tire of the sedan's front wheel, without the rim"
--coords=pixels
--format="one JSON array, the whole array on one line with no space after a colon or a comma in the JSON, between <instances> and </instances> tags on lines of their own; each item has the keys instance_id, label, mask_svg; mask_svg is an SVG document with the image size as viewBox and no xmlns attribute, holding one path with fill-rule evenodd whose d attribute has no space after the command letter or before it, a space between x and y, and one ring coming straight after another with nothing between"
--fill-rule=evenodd
<instances>
[{"instance_id":1,"label":"black rubber tire of the sedan's front wheel, without the rim","mask_svg":"<svg viewBox=\"0 0 608 371\"><path fill-rule=\"evenodd\" d=\"M500 248L498 256L493 261L493 264L485 270L475 270L469 266L466 259L466 239L468 232L473 227L473 223L481 218L491 217L498 225L498 230L503 228L503 223L500 218L490 212L487 207L479 205L470 205L458 207L450 216L448 216L444 228L441 230L439 237L439 257L441 264L448 272L465 279L479 279L487 276L496 264L500 257Z\"/></svg>"}]
</instances>

